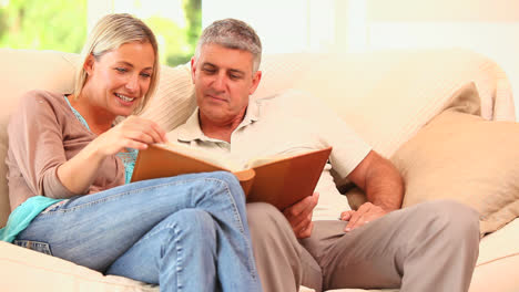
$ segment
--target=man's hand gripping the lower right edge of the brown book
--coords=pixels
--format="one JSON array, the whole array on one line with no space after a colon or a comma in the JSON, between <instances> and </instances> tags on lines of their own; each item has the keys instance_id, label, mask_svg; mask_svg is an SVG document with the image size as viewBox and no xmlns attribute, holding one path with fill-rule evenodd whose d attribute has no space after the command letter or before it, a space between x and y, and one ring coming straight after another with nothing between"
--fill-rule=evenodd
<instances>
[{"instance_id":1,"label":"man's hand gripping the lower right edge of the brown book","mask_svg":"<svg viewBox=\"0 0 519 292\"><path fill-rule=\"evenodd\" d=\"M292 226L292 230L297 238L307 238L312 234L314 223L312 222L312 213L319 199L319 194L304 198L303 200L292 205L283 210L286 219Z\"/></svg>"}]
</instances>

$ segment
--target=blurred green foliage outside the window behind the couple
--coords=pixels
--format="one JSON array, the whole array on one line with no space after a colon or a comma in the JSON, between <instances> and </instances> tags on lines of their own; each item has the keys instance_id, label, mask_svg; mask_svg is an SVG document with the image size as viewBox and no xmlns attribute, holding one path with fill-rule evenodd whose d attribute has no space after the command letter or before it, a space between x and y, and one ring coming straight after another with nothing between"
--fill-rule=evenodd
<instances>
[{"instance_id":1,"label":"blurred green foliage outside the window behind the couple","mask_svg":"<svg viewBox=\"0 0 519 292\"><path fill-rule=\"evenodd\" d=\"M86 38L86 4L88 0L0 0L0 48L79 53ZM133 4L139 9L146 2ZM191 59L201 32L201 0L183 0L183 28L164 17L143 19L159 39L161 63Z\"/></svg>"}]
</instances>

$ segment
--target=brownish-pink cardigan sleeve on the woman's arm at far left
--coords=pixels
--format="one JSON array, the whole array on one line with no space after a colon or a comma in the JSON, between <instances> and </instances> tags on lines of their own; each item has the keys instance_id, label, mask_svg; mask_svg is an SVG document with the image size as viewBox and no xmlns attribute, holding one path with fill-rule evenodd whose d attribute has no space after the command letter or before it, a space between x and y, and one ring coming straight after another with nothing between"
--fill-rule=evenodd
<instances>
[{"instance_id":1,"label":"brownish-pink cardigan sleeve on the woman's arm at far left","mask_svg":"<svg viewBox=\"0 0 519 292\"><path fill-rule=\"evenodd\" d=\"M50 93L32 91L22 96L8 126L9 150L27 186L34 195L68 198L58 178L58 167L67 161L63 147L62 107L52 103Z\"/></svg>"}]
</instances>

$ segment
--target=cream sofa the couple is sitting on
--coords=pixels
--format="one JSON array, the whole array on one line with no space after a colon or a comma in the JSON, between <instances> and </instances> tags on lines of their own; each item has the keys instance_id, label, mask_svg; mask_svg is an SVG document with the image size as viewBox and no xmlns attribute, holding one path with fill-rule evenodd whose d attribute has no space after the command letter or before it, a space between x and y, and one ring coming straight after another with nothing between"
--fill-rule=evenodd
<instances>
[{"instance_id":1,"label":"cream sofa the couple is sitting on","mask_svg":"<svg viewBox=\"0 0 519 292\"><path fill-rule=\"evenodd\" d=\"M32 88L70 92L78 55L0 49L0 64L4 96L0 109L0 160L3 161L7 150L6 125L19 95ZM286 88L307 91L319 103L332 106L376 150L399 163L404 170L415 169L403 165L406 158L399 153L413 145L407 148L404 146L446 108L458 106L461 111L481 115L489 121L515 121L512 94L506 75L496 63L469 51L266 55L262 70L263 81L254 98ZM172 129L185 121L194 108L193 86L187 66L163 67L161 73L159 91L143 115ZM476 85L480 100L472 98L470 92L460 92L470 82ZM513 125L511 127L515 128ZM511 138L505 144L513 146L516 142L516 138ZM519 147L516 148L519 152ZM490 157L492 154L481 155ZM406 178L409 177L407 175ZM479 180L485 178L486 173ZM500 221L485 227L490 231L499 230L481 240L471 292L519 291L519 220L515 219L517 209L508 208L517 207L518 204L519 179L516 181L496 182L509 187L505 192L499 192L507 197L507 208L493 206L492 200L481 195L485 200L480 201L478 208L491 207L485 211L497 213ZM471 182L469 178L468 185ZM457 199L457 194L449 191L444 191L444 196ZM478 197L470 198L471 194L468 196L469 205L478 200ZM356 190L349 191L348 197L354 206L363 199ZM6 166L0 164L0 226L4 226L8 215ZM486 218L493 217L488 213L481 216L482 221ZM159 291L157 286L120 277L104 277L71 262L6 242L0 242L0 291ZM305 290L302 288L302 291Z\"/></svg>"}]
</instances>

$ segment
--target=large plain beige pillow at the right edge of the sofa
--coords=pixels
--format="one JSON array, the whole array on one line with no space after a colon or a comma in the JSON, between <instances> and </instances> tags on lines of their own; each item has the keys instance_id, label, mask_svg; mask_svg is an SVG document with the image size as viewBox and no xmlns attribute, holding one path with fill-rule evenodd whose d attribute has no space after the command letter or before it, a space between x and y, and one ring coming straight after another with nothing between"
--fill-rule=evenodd
<instances>
[{"instance_id":1,"label":"large plain beige pillow at the right edge of the sofa","mask_svg":"<svg viewBox=\"0 0 519 292\"><path fill-rule=\"evenodd\" d=\"M454 199L480 213L481 236L519 215L519 124L449 108L391 157L406 181L403 207Z\"/></svg>"}]
</instances>

